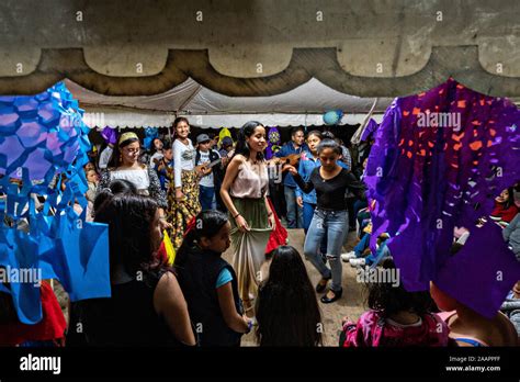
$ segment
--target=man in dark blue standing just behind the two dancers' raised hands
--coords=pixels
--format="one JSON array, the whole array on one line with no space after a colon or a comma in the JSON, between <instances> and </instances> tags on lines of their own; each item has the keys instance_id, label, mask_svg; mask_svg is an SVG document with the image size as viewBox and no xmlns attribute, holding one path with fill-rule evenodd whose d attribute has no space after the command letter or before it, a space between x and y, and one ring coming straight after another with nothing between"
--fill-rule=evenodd
<instances>
[{"instance_id":1,"label":"man in dark blue standing just behind the two dancers' raised hands","mask_svg":"<svg viewBox=\"0 0 520 382\"><path fill-rule=\"evenodd\" d=\"M291 154L302 153L309 153L307 144L305 144L304 130L302 127L294 127L291 132L291 142L283 145L274 156L281 158ZM287 228L303 228L303 209L296 203L296 182L289 172L285 173L283 189L287 205Z\"/></svg>"}]
</instances>

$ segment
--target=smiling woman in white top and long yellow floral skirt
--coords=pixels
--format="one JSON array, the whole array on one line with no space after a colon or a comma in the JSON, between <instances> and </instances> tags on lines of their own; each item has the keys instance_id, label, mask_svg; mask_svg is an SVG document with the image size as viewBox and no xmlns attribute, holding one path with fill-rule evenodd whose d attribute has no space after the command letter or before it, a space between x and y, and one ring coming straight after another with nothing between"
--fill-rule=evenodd
<instances>
[{"instance_id":1,"label":"smiling woman in white top and long yellow floral skirt","mask_svg":"<svg viewBox=\"0 0 520 382\"><path fill-rule=\"evenodd\" d=\"M195 148L191 139L190 123L179 116L173 121L176 142L173 143L174 188L168 191L169 216L173 222L172 241L176 250L180 248L188 223L201 212L199 202L199 176L195 171Z\"/></svg>"}]
</instances>

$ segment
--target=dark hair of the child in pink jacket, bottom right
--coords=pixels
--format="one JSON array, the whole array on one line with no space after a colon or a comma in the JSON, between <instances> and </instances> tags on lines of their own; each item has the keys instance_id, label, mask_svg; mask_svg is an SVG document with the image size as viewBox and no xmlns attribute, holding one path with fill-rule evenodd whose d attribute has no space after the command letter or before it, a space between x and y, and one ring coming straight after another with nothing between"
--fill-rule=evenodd
<instances>
[{"instance_id":1,"label":"dark hair of the child in pink jacket, bottom right","mask_svg":"<svg viewBox=\"0 0 520 382\"><path fill-rule=\"evenodd\" d=\"M396 270L392 258L386 258L381 261L377 268L383 270ZM369 307L380 312L384 317L389 317L398 312L412 312L419 316L423 316L434 308L433 300L428 291L408 292L403 286L402 281L403 280L399 280L397 286L392 282L370 282L366 285L369 290L366 299Z\"/></svg>"}]
</instances>

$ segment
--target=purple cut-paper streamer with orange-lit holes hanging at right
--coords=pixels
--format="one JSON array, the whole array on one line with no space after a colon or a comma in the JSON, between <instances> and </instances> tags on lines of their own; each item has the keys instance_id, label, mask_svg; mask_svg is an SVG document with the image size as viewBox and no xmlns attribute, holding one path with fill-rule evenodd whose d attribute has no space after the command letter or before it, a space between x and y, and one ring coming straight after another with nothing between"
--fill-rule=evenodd
<instances>
[{"instance_id":1,"label":"purple cut-paper streamer with orange-lit holes hanging at right","mask_svg":"<svg viewBox=\"0 0 520 382\"><path fill-rule=\"evenodd\" d=\"M477 93L452 79L395 99L386 110L365 177L369 200L374 202L371 247L380 234L391 234L388 248L407 290L427 290L441 269L456 274L456 257L464 252L449 261L455 226L487 237L486 231L475 231L475 222L490 213L501 190L520 179L519 123L520 112L509 100ZM483 248L474 249L475 258L482 257ZM515 258L510 251L495 256ZM493 268L495 260L484 257L468 269L466 282L481 282L479 271ZM520 272L515 278L520 279ZM478 303L457 283L450 292L490 316L512 284L487 285L489 300Z\"/></svg>"}]
</instances>

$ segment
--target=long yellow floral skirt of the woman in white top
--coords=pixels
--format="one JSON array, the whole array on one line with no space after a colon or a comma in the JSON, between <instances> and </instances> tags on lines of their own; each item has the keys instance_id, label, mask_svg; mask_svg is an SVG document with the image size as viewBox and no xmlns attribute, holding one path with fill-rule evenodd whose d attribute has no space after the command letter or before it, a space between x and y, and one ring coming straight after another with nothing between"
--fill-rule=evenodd
<instances>
[{"instance_id":1,"label":"long yellow floral skirt of the woman in white top","mask_svg":"<svg viewBox=\"0 0 520 382\"><path fill-rule=\"evenodd\" d=\"M201 212L199 201L199 177L195 171L182 170L182 193L184 200L176 201L176 189L170 182L168 190L168 213L167 220L173 227L170 232L171 241L176 251L180 248L188 223Z\"/></svg>"}]
</instances>

